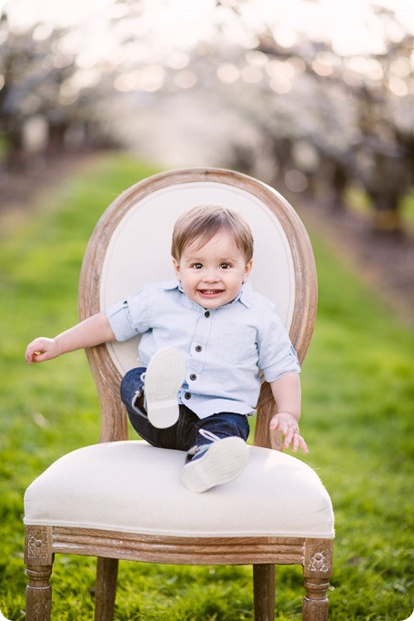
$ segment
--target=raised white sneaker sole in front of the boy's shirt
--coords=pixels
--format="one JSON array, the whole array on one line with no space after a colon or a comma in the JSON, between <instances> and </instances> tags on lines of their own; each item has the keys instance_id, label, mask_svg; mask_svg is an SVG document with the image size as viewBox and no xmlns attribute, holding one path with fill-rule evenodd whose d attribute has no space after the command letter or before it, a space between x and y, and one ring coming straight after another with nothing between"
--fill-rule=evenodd
<instances>
[{"instance_id":1,"label":"raised white sneaker sole in front of the boy's shirt","mask_svg":"<svg viewBox=\"0 0 414 621\"><path fill-rule=\"evenodd\" d=\"M186 379L186 359L181 351L166 347L157 351L146 367L145 397L148 421L158 429L178 420L177 392Z\"/></svg>"}]
</instances>

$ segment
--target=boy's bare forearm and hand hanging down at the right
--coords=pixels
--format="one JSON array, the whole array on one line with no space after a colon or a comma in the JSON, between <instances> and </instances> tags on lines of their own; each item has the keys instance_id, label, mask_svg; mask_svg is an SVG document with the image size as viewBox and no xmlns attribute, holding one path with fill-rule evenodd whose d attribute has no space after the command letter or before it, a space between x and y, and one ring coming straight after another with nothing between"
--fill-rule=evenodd
<instances>
[{"instance_id":1,"label":"boy's bare forearm and hand hanging down at the right","mask_svg":"<svg viewBox=\"0 0 414 621\"><path fill-rule=\"evenodd\" d=\"M278 413L273 416L269 424L270 431L280 430L285 436L284 446L288 448L292 444L294 453L298 447L304 453L308 453L308 446L299 432L300 418L300 378L298 373L285 373L270 382Z\"/></svg>"}]
</instances>

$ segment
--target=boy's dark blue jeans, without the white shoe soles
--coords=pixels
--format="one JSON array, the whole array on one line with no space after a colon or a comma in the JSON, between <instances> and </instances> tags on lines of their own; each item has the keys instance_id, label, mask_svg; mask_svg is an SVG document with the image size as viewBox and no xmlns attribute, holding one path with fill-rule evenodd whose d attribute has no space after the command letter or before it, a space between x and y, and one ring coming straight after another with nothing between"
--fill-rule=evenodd
<instances>
[{"instance_id":1,"label":"boy's dark blue jeans, without the white shoe soles","mask_svg":"<svg viewBox=\"0 0 414 621\"><path fill-rule=\"evenodd\" d=\"M146 442L153 446L179 451L194 452L195 447L209 444L211 441L201 435L200 429L215 433L218 438L237 436L247 440L249 425L247 416L231 412L217 412L207 418L198 418L187 405L180 404L178 421L167 429L158 429L146 418L143 397L136 397L136 391L142 391L141 375L146 370L142 367L128 371L121 382L121 399L126 405L129 420Z\"/></svg>"}]
</instances>

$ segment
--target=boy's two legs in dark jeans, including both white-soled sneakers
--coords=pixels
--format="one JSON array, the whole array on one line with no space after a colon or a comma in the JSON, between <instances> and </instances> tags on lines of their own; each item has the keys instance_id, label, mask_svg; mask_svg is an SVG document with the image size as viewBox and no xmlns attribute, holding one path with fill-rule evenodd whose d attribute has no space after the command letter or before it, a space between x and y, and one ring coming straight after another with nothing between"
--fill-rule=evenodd
<instances>
[{"instance_id":1,"label":"boy's two legs in dark jeans, including both white-soled sneakers","mask_svg":"<svg viewBox=\"0 0 414 621\"><path fill-rule=\"evenodd\" d=\"M186 406L179 406L177 392L185 371L179 351L160 350L146 370L126 373L121 398L132 426L147 442L188 451L182 482L194 492L205 492L244 470L249 425L241 414L224 412L199 420Z\"/></svg>"}]
</instances>

